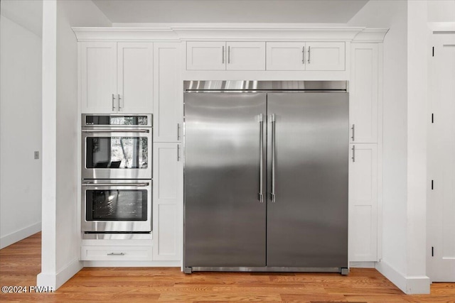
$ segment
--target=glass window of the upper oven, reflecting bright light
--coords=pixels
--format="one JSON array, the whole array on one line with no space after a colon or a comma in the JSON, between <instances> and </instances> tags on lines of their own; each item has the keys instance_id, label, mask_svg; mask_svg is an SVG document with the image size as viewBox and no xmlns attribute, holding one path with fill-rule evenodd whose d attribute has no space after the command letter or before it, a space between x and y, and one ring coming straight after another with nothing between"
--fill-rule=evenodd
<instances>
[{"instance_id":1,"label":"glass window of the upper oven, reflecting bright light","mask_svg":"<svg viewBox=\"0 0 455 303\"><path fill-rule=\"evenodd\" d=\"M149 165L146 137L88 137L87 168L145 169Z\"/></svg>"}]
</instances>

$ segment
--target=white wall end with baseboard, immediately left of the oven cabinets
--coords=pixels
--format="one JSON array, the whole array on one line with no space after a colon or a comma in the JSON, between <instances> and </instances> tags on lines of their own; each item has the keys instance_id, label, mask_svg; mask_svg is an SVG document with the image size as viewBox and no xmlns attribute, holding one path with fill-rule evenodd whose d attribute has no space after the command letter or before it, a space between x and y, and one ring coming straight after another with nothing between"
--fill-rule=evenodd
<instances>
[{"instance_id":1,"label":"white wall end with baseboard, immediately left of the oven cabinets","mask_svg":"<svg viewBox=\"0 0 455 303\"><path fill-rule=\"evenodd\" d=\"M53 57L43 59L48 70L44 81L48 98L43 108L53 111L48 118L55 123L43 123L43 142L50 141L53 158L43 159L43 256L39 285L60 287L82 265L79 258L77 230L77 40L72 26L111 26L100 9L88 0L48 0L45 13L50 13L53 24L43 28L54 43ZM54 12L55 10L55 12ZM55 33L55 38L52 37ZM45 40L43 39L43 43ZM43 71L44 72L44 71ZM54 85L55 84L55 85ZM44 89L43 89L44 92ZM54 95L51 95L54 92ZM45 113L43 112L43 115ZM49 163L48 163L49 162ZM44 197L44 192L48 192Z\"/></svg>"}]
</instances>

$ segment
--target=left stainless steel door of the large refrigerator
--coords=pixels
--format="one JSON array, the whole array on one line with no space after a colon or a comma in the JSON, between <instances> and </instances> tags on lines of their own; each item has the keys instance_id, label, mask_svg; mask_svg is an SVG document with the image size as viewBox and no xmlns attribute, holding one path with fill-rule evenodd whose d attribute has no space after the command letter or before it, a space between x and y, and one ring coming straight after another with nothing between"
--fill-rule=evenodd
<instances>
[{"instance_id":1,"label":"left stainless steel door of the large refrigerator","mask_svg":"<svg viewBox=\"0 0 455 303\"><path fill-rule=\"evenodd\" d=\"M265 266L266 101L261 93L185 94L185 267Z\"/></svg>"}]
</instances>

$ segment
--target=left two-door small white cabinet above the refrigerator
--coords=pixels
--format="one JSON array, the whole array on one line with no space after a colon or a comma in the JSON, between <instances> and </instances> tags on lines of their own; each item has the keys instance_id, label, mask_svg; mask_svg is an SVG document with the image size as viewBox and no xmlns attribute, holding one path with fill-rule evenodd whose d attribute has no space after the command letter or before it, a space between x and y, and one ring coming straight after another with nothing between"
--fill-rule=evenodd
<instances>
[{"instance_id":1,"label":"left two-door small white cabinet above the refrigerator","mask_svg":"<svg viewBox=\"0 0 455 303\"><path fill-rule=\"evenodd\" d=\"M265 70L264 42L188 42L187 70Z\"/></svg>"}]
</instances>

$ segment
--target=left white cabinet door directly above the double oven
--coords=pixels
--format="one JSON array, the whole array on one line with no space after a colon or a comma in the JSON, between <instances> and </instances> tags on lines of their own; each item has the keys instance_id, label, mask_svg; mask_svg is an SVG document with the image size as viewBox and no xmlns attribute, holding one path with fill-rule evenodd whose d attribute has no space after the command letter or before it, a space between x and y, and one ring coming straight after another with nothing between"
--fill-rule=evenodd
<instances>
[{"instance_id":1,"label":"left white cabinet door directly above the double oven","mask_svg":"<svg viewBox=\"0 0 455 303\"><path fill-rule=\"evenodd\" d=\"M80 53L82 113L117 111L117 43L83 42Z\"/></svg>"}]
</instances>

